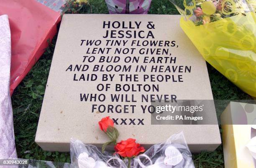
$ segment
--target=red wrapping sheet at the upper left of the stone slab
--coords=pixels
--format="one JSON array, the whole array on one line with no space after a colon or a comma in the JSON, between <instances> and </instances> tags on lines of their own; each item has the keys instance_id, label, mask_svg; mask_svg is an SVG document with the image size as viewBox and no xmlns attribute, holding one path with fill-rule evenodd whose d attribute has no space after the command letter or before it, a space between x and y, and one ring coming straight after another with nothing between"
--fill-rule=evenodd
<instances>
[{"instance_id":1,"label":"red wrapping sheet at the upper left of the stone slab","mask_svg":"<svg viewBox=\"0 0 256 168\"><path fill-rule=\"evenodd\" d=\"M44 53L56 34L65 0L0 0L11 30L10 94ZM59 10L58 10L59 9Z\"/></svg>"}]
</instances>

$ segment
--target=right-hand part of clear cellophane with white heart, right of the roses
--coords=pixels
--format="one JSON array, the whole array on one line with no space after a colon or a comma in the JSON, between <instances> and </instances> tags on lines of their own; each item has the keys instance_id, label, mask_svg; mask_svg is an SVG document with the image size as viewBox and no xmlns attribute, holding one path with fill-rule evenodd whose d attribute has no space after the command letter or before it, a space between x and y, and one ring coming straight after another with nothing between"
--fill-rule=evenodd
<instances>
[{"instance_id":1,"label":"right-hand part of clear cellophane with white heart, right of the roses","mask_svg":"<svg viewBox=\"0 0 256 168\"><path fill-rule=\"evenodd\" d=\"M183 132L153 145L133 159L132 168L195 168Z\"/></svg>"}]
</instances>

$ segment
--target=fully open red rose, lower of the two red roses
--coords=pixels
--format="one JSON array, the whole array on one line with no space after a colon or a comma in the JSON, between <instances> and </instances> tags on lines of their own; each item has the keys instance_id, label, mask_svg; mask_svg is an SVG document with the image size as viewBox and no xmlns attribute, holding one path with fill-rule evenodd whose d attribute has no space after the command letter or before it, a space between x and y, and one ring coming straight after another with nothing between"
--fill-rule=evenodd
<instances>
[{"instance_id":1,"label":"fully open red rose, lower of the two red roses","mask_svg":"<svg viewBox=\"0 0 256 168\"><path fill-rule=\"evenodd\" d=\"M133 138L128 138L127 140L121 140L121 142L115 145L115 151L123 157L131 158L145 151L139 143L135 142Z\"/></svg>"}]
</instances>

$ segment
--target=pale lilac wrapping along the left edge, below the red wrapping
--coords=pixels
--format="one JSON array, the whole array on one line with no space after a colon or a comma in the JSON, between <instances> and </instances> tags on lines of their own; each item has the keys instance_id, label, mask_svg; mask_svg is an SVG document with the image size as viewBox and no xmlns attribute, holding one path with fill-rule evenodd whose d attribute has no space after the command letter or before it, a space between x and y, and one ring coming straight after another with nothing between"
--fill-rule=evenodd
<instances>
[{"instance_id":1,"label":"pale lilac wrapping along the left edge, below the red wrapping","mask_svg":"<svg viewBox=\"0 0 256 168\"><path fill-rule=\"evenodd\" d=\"M7 15L0 16L0 159L17 158L10 99L11 37Z\"/></svg>"}]
</instances>

